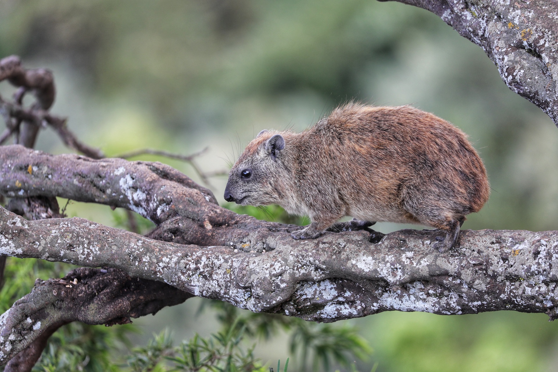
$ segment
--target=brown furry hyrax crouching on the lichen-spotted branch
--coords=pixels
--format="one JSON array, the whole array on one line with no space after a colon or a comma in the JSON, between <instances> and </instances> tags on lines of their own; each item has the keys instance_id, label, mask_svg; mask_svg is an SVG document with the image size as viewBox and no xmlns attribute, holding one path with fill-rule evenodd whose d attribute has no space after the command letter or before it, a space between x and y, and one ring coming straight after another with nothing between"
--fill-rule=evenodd
<instances>
[{"instance_id":1,"label":"brown furry hyrax crouching on the lichen-spotted branch","mask_svg":"<svg viewBox=\"0 0 558 372\"><path fill-rule=\"evenodd\" d=\"M482 160L466 135L409 106L349 103L302 133L262 131L229 173L225 199L278 204L311 224L313 239L343 216L442 230L434 247L454 247L465 216L488 200Z\"/></svg>"}]
</instances>

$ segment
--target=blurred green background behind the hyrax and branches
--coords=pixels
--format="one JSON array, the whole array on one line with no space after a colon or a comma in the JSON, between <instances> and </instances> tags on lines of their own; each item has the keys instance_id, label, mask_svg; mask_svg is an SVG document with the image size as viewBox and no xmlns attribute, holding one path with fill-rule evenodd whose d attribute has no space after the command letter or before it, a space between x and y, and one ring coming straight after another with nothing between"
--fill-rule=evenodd
<instances>
[{"instance_id":1,"label":"blurred green background behind the hyrax and branches","mask_svg":"<svg viewBox=\"0 0 558 372\"><path fill-rule=\"evenodd\" d=\"M412 104L463 129L485 162L492 195L464 229L556 229L558 129L504 85L480 47L423 9L372 0L2 0L0 57L10 54L54 71L51 111L108 156L209 146L198 160L208 172L228 170L261 129L300 131L347 100ZM0 85L3 96L11 91ZM49 130L36 147L69 151ZM199 181L185 163L139 158ZM224 204L226 176L210 182ZM122 222L105 206L72 202L66 212ZM138 319L143 333L132 342L165 326L176 340L209 335L218 328L212 310L196 317L198 306L193 299ZM374 349L357 363L362 370L558 370L558 325L545 315L389 312L349 323ZM254 352L264 363L284 360L287 339Z\"/></svg>"}]
</instances>

